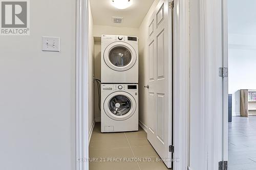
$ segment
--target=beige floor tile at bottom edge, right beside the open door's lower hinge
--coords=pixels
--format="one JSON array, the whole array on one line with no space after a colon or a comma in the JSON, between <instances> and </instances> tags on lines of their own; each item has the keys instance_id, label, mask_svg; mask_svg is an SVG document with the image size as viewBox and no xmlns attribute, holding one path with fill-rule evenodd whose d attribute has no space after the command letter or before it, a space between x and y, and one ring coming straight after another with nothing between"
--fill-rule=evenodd
<instances>
[{"instance_id":1,"label":"beige floor tile at bottom edge, right beside the open door's lower hinge","mask_svg":"<svg viewBox=\"0 0 256 170\"><path fill-rule=\"evenodd\" d=\"M138 162L141 170L170 170L162 161L159 161L159 157L151 157L147 160L148 161Z\"/></svg>"}]
</instances>

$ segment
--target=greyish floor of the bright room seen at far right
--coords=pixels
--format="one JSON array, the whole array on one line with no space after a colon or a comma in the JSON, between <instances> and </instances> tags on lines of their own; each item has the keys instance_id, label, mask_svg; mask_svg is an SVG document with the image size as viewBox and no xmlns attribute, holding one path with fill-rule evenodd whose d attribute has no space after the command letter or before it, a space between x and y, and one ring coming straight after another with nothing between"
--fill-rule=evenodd
<instances>
[{"instance_id":1,"label":"greyish floor of the bright room seen at far right","mask_svg":"<svg viewBox=\"0 0 256 170\"><path fill-rule=\"evenodd\" d=\"M233 116L228 124L228 169L256 169L256 116Z\"/></svg>"}]
</instances>

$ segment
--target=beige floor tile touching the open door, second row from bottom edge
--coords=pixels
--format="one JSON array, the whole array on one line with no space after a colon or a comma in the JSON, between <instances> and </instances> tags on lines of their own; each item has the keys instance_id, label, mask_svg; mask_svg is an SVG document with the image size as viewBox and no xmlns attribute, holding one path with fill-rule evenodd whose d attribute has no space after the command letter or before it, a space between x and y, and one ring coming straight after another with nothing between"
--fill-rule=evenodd
<instances>
[{"instance_id":1,"label":"beige floor tile touching the open door, second row from bottom edge","mask_svg":"<svg viewBox=\"0 0 256 170\"><path fill-rule=\"evenodd\" d=\"M152 146L132 147L135 157L152 157L158 156Z\"/></svg>"}]
</instances>

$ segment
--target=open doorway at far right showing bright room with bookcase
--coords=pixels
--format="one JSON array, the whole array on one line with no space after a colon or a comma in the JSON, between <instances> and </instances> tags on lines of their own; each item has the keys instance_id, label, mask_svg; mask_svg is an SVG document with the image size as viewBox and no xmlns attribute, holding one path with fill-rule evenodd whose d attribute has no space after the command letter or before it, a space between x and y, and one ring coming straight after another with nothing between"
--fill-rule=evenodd
<instances>
[{"instance_id":1,"label":"open doorway at far right showing bright room with bookcase","mask_svg":"<svg viewBox=\"0 0 256 170\"><path fill-rule=\"evenodd\" d=\"M228 166L256 169L256 2L227 3Z\"/></svg>"}]
</instances>

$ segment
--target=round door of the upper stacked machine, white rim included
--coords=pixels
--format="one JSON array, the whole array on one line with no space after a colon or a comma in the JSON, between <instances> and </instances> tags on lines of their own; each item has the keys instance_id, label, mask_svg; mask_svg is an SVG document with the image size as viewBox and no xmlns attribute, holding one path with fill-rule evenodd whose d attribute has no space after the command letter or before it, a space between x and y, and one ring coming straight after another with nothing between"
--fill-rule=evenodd
<instances>
[{"instance_id":1,"label":"round door of the upper stacked machine, white rim included","mask_svg":"<svg viewBox=\"0 0 256 170\"><path fill-rule=\"evenodd\" d=\"M126 42L114 42L106 47L104 61L115 71L131 69L137 60L137 54L132 45Z\"/></svg>"}]
</instances>

